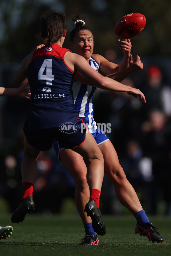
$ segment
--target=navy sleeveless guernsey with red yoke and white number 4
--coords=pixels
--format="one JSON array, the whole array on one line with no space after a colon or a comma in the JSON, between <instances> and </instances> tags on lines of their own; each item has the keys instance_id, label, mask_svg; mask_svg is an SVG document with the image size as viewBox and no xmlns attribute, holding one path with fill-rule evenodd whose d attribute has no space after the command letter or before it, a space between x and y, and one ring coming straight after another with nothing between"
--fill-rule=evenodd
<instances>
[{"instance_id":1,"label":"navy sleeveless guernsey with red yoke and white number 4","mask_svg":"<svg viewBox=\"0 0 171 256\"><path fill-rule=\"evenodd\" d=\"M64 62L67 51L53 44L32 55L26 72L31 91L30 128L58 127L79 117L72 96L74 74Z\"/></svg>"}]
</instances>

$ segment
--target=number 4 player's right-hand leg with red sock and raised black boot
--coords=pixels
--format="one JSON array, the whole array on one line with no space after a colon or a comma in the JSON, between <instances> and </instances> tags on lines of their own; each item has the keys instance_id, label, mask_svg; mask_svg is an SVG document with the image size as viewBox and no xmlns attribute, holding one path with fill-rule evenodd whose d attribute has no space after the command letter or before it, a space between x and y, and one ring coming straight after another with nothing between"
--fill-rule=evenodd
<instances>
[{"instance_id":1,"label":"number 4 player's right-hand leg with red sock and raised black boot","mask_svg":"<svg viewBox=\"0 0 171 256\"><path fill-rule=\"evenodd\" d=\"M100 191L104 176L103 155L93 135L88 130L84 143L74 148L74 151L81 154L89 163L87 182L90 189L90 200L86 204L84 211L87 212L87 216L91 217L94 231L103 236L106 233L106 228L99 210Z\"/></svg>"}]
</instances>

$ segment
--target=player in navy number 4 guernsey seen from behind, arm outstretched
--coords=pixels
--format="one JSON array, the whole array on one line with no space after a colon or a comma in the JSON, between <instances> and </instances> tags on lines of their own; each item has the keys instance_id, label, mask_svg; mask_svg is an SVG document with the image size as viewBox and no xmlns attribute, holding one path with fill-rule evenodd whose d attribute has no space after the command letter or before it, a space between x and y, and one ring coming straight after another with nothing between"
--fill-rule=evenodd
<instances>
[{"instance_id":1,"label":"player in navy number 4 guernsey seen from behind, arm outstretched","mask_svg":"<svg viewBox=\"0 0 171 256\"><path fill-rule=\"evenodd\" d=\"M28 79L31 91L30 111L24 125L24 156L21 163L23 202L12 214L12 222L22 222L25 215L34 211L33 184L37 175L36 159L41 151L52 147L57 139L60 147L71 148L89 163L87 181L89 198L84 211L92 219L92 226L98 235L105 235L105 224L99 210L101 185L104 175L104 161L101 150L87 129L85 117L80 117L74 105L72 83L79 71L96 87L127 92L145 102L144 94L136 88L104 77L95 71L86 59L62 48L66 36L66 17L51 10L41 17L40 49L30 53L21 63L13 82L20 85ZM61 127L68 124L67 132ZM75 132L75 127L78 127Z\"/></svg>"}]
</instances>

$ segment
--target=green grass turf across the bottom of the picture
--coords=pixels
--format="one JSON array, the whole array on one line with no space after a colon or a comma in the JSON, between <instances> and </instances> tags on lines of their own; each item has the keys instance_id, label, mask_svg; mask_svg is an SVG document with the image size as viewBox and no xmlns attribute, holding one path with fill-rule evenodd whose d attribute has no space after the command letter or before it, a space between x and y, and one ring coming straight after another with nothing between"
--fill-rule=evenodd
<instances>
[{"instance_id":1,"label":"green grass turf across the bottom of the picture","mask_svg":"<svg viewBox=\"0 0 171 256\"><path fill-rule=\"evenodd\" d=\"M13 226L10 238L0 240L0 255L171 255L171 218L151 217L164 243L152 243L135 235L133 216L105 215L106 235L99 236L99 245L81 246L84 227L79 216L27 214L23 223L11 223L11 215L1 214L0 225Z\"/></svg>"}]
</instances>

